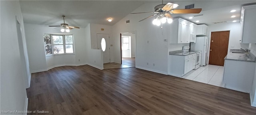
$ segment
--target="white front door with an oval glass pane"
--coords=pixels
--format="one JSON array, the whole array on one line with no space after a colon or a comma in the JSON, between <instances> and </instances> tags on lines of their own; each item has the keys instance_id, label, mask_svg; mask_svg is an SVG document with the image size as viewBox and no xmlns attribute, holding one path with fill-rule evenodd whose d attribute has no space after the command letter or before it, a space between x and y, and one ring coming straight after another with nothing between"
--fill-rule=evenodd
<instances>
[{"instance_id":1,"label":"white front door with an oval glass pane","mask_svg":"<svg viewBox=\"0 0 256 115\"><path fill-rule=\"evenodd\" d=\"M109 35L97 34L97 48L103 51L103 63L110 63Z\"/></svg>"}]
</instances>

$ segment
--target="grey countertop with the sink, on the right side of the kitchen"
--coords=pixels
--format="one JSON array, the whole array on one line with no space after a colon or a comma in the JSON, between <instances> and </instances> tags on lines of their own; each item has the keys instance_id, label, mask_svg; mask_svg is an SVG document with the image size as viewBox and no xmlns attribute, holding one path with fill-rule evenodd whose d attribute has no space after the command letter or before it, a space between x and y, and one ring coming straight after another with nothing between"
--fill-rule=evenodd
<instances>
[{"instance_id":1,"label":"grey countertop with the sink, on the right side of the kitchen","mask_svg":"<svg viewBox=\"0 0 256 115\"><path fill-rule=\"evenodd\" d=\"M233 51L230 50L228 52L228 55L224 58L225 60L235 60L235 61L248 61L248 62L255 62L256 57L252 53L244 53L244 54L239 54L239 53L232 53ZM242 51L237 51L236 52L242 52Z\"/></svg>"}]
</instances>

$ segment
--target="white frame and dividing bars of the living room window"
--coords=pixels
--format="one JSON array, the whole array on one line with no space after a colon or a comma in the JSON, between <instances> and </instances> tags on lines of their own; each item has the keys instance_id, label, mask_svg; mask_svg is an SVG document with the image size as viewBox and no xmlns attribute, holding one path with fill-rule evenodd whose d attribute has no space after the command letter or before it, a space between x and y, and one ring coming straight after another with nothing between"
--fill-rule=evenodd
<instances>
[{"instance_id":1,"label":"white frame and dividing bars of the living room window","mask_svg":"<svg viewBox=\"0 0 256 115\"><path fill-rule=\"evenodd\" d=\"M45 56L56 56L56 55L69 55L69 54L75 54L75 46L74 46L74 35L73 34L48 34L50 35L50 41L51 41L51 44L44 44L44 54ZM62 36L62 42L63 44L53 44L53 38L52 36ZM66 38L65 36L72 36L72 43L73 44L66 44ZM45 49L45 46L46 45L51 45L52 46L52 54L46 54L46 49ZM64 50L64 53L62 54L54 54L54 45L62 45L63 46L63 50ZM73 47L73 53L66 53L66 45L72 45Z\"/></svg>"}]
</instances>

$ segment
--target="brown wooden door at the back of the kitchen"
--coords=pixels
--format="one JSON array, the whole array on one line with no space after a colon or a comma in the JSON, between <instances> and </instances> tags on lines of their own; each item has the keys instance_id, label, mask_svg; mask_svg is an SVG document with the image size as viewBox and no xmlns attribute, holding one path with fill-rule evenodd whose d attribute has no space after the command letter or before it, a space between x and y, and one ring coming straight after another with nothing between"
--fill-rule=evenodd
<instances>
[{"instance_id":1,"label":"brown wooden door at the back of the kitchen","mask_svg":"<svg viewBox=\"0 0 256 115\"><path fill-rule=\"evenodd\" d=\"M212 32L209 64L224 66L224 57L228 54L229 32Z\"/></svg>"}]
</instances>

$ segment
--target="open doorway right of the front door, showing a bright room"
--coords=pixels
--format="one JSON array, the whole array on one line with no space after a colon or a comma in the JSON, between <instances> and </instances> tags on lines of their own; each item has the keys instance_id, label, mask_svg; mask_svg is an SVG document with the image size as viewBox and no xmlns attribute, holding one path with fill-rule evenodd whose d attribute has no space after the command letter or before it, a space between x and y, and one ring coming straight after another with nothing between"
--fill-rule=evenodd
<instances>
[{"instance_id":1,"label":"open doorway right of the front door, showing a bright room","mask_svg":"<svg viewBox=\"0 0 256 115\"><path fill-rule=\"evenodd\" d=\"M136 33L125 32L120 34L121 64L135 67Z\"/></svg>"}]
</instances>

